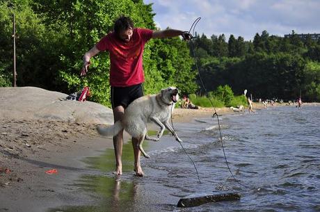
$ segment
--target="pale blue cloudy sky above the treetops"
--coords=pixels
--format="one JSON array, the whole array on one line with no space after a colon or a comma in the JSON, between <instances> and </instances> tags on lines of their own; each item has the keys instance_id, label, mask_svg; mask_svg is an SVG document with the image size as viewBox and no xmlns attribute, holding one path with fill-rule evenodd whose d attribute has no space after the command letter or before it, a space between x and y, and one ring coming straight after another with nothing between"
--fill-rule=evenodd
<instances>
[{"instance_id":1,"label":"pale blue cloudy sky above the treetops","mask_svg":"<svg viewBox=\"0 0 320 212\"><path fill-rule=\"evenodd\" d=\"M195 31L207 37L230 34L253 40L255 33L283 36L296 33L320 33L320 0L143 0L153 3L154 22L189 31L201 17Z\"/></svg>"}]
</instances>

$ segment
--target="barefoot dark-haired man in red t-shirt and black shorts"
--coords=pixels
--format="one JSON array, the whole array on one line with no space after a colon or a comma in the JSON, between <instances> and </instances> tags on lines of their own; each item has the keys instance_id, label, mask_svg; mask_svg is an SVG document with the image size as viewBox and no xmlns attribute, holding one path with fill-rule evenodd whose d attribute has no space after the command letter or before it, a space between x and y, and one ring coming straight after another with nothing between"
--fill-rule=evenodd
<instances>
[{"instance_id":1,"label":"barefoot dark-haired man in red t-shirt and black shorts","mask_svg":"<svg viewBox=\"0 0 320 212\"><path fill-rule=\"evenodd\" d=\"M90 58L100 51L109 51L110 57L110 85L111 104L113 108L114 122L121 120L125 108L143 96L143 49L145 43L151 38L172 38L182 35L184 40L190 40L189 32L175 29L164 31L152 31L146 28L134 28L134 24L129 17L122 16L115 20L114 31L107 34L95 46L83 56L83 67L81 76L86 75L90 65ZM138 140L132 139L134 147L134 170L137 176L143 176L140 165L140 149ZM123 131L113 137L115 148L115 174L122 174L122 143Z\"/></svg>"}]
</instances>

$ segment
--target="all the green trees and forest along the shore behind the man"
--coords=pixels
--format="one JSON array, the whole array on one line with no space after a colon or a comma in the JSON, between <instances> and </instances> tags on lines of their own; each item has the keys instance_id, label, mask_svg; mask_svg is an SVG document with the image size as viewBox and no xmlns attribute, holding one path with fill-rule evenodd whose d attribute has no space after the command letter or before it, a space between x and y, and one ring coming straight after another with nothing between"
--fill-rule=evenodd
<instances>
[{"instance_id":1,"label":"all the green trees and forest along the shore behind the man","mask_svg":"<svg viewBox=\"0 0 320 212\"><path fill-rule=\"evenodd\" d=\"M113 21L128 15L137 27L156 29L152 4L143 0L0 0L0 86L13 79L13 13L17 28L17 85L71 93L90 86L91 101L110 105L109 59L92 59L80 77L82 56ZM170 26L170 23L168 23ZM320 100L320 42L279 38L266 31L253 42L224 35L193 39L194 53L207 92L230 85L235 95ZM204 94L191 57L191 43L179 38L150 40L143 56L145 93L175 85L182 94Z\"/></svg>"}]
</instances>

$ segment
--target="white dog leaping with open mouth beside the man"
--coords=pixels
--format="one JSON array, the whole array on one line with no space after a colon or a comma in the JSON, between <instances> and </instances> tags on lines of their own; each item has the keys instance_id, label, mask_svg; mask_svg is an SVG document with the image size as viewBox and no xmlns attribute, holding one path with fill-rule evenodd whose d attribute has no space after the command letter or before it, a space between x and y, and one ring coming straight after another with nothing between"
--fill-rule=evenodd
<instances>
[{"instance_id":1,"label":"white dog leaping with open mouth beside the man","mask_svg":"<svg viewBox=\"0 0 320 212\"><path fill-rule=\"evenodd\" d=\"M138 148L143 156L150 158L143 150L143 140L158 141L165 127L173 133L175 140L182 142L169 124L172 110L178 99L178 89L173 87L162 89L158 95L140 97L125 109L122 120L115 122L111 127L97 127L97 131L102 136L115 136L125 129L130 136L138 140ZM147 136L147 122L154 122L160 127L157 138Z\"/></svg>"}]
</instances>

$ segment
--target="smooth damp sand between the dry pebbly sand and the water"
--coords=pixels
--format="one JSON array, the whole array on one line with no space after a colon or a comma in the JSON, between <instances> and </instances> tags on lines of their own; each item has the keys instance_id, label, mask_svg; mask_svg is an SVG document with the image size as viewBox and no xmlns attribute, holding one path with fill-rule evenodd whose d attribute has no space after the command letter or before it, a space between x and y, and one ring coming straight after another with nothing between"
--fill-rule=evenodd
<instances>
[{"instance_id":1,"label":"smooth damp sand between the dry pebbly sand and the water","mask_svg":"<svg viewBox=\"0 0 320 212\"><path fill-rule=\"evenodd\" d=\"M53 136L46 143L40 142L38 149L27 147L20 154L1 151L1 168L10 171L1 173L0 211L46 211L61 204L79 204L79 199L81 204L90 204L90 195L72 184L81 174L94 171L81 162L83 157L111 148L112 142L81 134L68 137L58 140ZM53 169L57 173L46 173Z\"/></svg>"}]
</instances>

